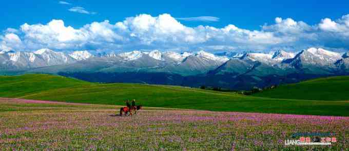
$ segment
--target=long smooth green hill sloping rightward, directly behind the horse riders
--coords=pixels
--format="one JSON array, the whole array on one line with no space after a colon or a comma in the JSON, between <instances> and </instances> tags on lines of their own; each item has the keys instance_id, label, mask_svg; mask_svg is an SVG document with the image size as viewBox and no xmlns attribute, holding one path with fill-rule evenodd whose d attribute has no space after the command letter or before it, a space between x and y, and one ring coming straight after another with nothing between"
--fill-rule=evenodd
<instances>
[{"instance_id":1,"label":"long smooth green hill sloping rightward, directly behind the horse riders","mask_svg":"<svg viewBox=\"0 0 349 151\"><path fill-rule=\"evenodd\" d=\"M345 101L270 99L180 86L96 84L47 74L0 76L0 97L124 105L136 99L149 107L213 111L349 116Z\"/></svg>"}]
</instances>

